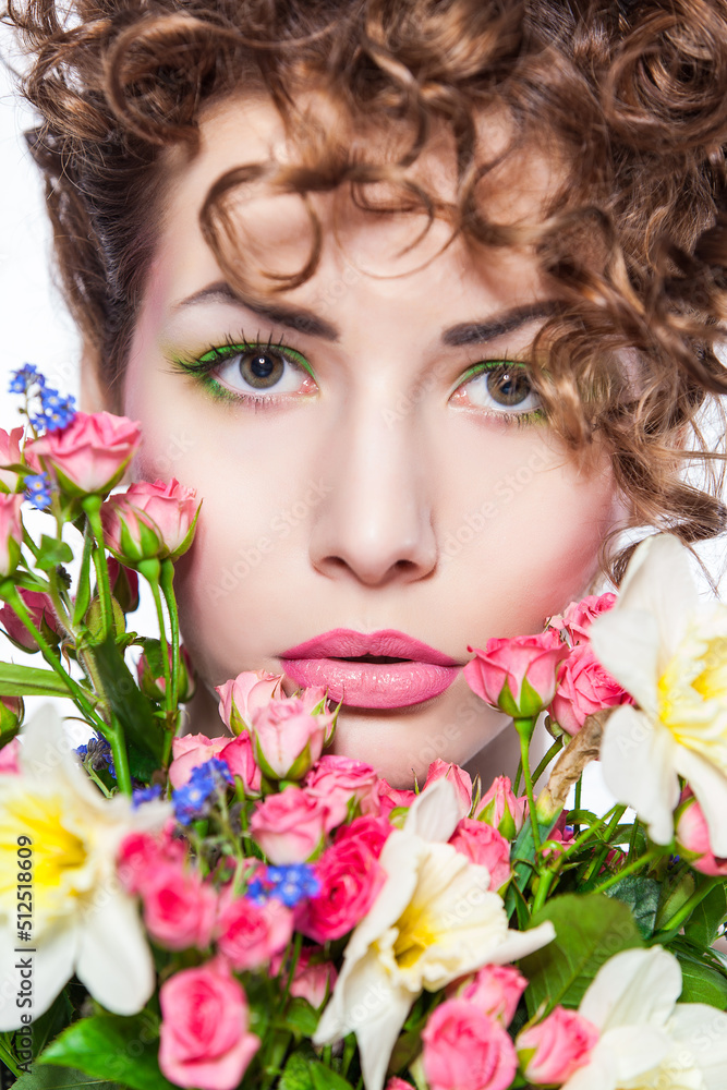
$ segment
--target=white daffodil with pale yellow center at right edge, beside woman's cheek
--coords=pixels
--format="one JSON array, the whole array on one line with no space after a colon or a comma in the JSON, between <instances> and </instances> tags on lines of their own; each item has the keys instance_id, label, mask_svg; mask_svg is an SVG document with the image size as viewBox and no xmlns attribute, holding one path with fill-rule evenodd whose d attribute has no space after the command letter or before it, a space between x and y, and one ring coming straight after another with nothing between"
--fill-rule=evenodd
<instances>
[{"instance_id":1,"label":"white daffodil with pale yellow center at right edge, beside woman's cheek","mask_svg":"<svg viewBox=\"0 0 727 1090\"><path fill-rule=\"evenodd\" d=\"M670 534L633 554L614 608L590 638L639 707L609 716L601 761L613 794L656 844L674 835L678 776L704 812L715 856L727 856L727 606L702 610L688 550Z\"/></svg>"}]
</instances>

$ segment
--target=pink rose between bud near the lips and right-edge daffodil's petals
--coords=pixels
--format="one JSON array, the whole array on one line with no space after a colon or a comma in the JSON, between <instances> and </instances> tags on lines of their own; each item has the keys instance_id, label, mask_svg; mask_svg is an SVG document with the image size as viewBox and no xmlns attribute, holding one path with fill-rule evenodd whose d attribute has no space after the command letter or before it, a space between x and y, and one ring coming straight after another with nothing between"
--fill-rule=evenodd
<instances>
[{"instance_id":1,"label":"pink rose between bud near the lips and right-edge daffodil's petals","mask_svg":"<svg viewBox=\"0 0 727 1090\"><path fill-rule=\"evenodd\" d=\"M604 669L590 643L573 647L558 671L558 689L548 708L568 735L577 735L587 715L615 704L632 704L628 692Z\"/></svg>"}]
</instances>

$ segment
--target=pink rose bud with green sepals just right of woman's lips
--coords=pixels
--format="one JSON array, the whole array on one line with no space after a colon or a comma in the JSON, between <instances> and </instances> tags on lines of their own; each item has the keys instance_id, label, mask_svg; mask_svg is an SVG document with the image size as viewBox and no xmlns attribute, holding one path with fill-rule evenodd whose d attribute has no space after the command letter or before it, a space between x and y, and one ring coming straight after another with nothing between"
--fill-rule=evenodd
<instances>
[{"instance_id":1,"label":"pink rose bud with green sepals just right of woman's lips","mask_svg":"<svg viewBox=\"0 0 727 1090\"><path fill-rule=\"evenodd\" d=\"M473 692L516 719L534 718L553 700L558 664L569 654L556 632L488 640L462 670Z\"/></svg>"}]
</instances>

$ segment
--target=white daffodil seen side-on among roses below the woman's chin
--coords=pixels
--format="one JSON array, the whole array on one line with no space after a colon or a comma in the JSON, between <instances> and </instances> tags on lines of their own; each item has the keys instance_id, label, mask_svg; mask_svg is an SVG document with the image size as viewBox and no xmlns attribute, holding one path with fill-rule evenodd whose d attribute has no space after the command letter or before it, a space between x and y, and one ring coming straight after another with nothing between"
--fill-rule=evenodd
<instances>
[{"instance_id":1,"label":"white daffodil seen side-on among roses below the woman's chin","mask_svg":"<svg viewBox=\"0 0 727 1090\"><path fill-rule=\"evenodd\" d=\"M438 779L387 839L388 877L353 931L314 1043L355 1032L366 1090L381 1090L401 1027L421 992L486 964L524 957L555 937L552 923L510 931L489 872L449 839L460 820L453 786Z\"/></svg>"}]
</instances>

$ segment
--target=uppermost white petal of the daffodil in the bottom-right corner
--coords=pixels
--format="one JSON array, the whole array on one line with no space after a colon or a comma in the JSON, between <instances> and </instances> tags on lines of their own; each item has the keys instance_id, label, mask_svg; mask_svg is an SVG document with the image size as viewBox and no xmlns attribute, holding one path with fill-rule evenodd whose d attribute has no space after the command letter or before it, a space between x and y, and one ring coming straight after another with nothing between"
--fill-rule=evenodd
<instances>
[{"instance_id":1,"label":"uppermost white petal of the daffodil in the bottom-right corner","mask_svg":"<svg viewBox=\"0 0 727 1090\"><path fill-rule=\"evenodd\" d=\"M662 1027L681 993L681 969L661 946L621 950L589 984L579 1014L602 1032L621 1026Z\"/></svg>"}]
</instances>

